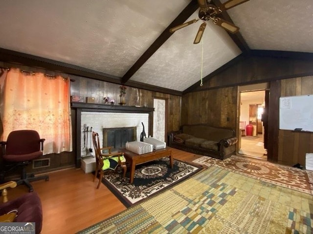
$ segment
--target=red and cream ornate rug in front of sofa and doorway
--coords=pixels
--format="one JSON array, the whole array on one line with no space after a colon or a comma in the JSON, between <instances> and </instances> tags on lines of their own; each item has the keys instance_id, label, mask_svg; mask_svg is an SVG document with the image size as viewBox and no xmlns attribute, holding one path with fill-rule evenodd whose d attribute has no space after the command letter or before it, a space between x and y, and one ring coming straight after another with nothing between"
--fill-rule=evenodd
<instances>
[{"instance_id":1,"label":"red and cream ornate rug in front of sofa and doorway","mask_svg":"<svg viewBox=\"0 0 313 234\"><path fill-rule=\"evenodd\" d=\"M260 179L268 183L280 185L303 193L313 194L311 183L313 178L312 171L234 155L224 160L202 156L193 162L208 167L222 167L241 175Z\"/></svg>"}]
</instances>

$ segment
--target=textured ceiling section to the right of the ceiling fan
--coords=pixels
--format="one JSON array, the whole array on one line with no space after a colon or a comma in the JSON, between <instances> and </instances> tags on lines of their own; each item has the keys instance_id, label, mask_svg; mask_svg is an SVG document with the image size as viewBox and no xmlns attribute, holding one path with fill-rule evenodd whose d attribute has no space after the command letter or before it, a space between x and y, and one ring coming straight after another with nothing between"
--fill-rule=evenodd
<instances>
[{"instance_id":1,"label":"textured ceiling section to the right of the ceiling fan","mask_svg":"<svg viewBox=\"0 0 313 234\"><path fill-rule=\"evenodd\" d=\"M313 0L250 0L227 13L250 49L313 52Z\"/></svg>"}]
</instances>

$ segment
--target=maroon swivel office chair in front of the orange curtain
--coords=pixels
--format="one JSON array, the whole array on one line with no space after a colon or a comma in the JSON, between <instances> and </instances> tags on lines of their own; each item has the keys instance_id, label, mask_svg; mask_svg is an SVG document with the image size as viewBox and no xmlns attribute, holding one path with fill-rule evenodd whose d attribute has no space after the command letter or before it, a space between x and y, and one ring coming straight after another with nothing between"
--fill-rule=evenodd
<instances>
[{"instance_id":1,"label":"maroon swivel office chair in front of the orange curtain","mask_svg":"<svg viewBox=\"0 0 313 234\"><path fill-rule=\"evenodd\" d=\"M33 159L43 155L44 141L45 139L40 138L37 131L16 130L9 133L6 141L0 142L2 145L2 158L5 163L4 171L8 172L22 167L21 178L16 182L18 185L25 184L29 188L29 192L33 191L30 182L41 179L49 180L49 176L26 174L26 166Z\"/></svg>"}]
</instances>

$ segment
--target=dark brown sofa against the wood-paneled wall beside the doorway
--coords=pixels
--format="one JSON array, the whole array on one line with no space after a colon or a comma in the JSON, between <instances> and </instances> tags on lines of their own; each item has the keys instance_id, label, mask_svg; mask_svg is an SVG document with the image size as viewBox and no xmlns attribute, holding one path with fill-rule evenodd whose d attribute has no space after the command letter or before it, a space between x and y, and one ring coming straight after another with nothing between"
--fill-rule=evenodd
<instances>
[{"instance_id":1,"label":"dark brown sofa against the wood-paneled wall beside the doorway","mask_svg":"<svg viewBox=\"0 0 313 234\"><path fill-rule=\"evenodd\" d=\"M237 142L233 129L207 124L186 124L168 133L168 146L222 160L236 152Z\"/></svg>"}]
</instances>

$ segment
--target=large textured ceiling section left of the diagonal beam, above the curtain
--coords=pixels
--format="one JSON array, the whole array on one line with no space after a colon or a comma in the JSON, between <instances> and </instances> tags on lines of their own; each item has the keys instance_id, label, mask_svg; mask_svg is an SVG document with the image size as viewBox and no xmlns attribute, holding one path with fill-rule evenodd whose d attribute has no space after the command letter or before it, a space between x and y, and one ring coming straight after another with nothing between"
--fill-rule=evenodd
<instances>
[{"instance_id":1,"label":"large textured ceiling section left of the diagonal beam, above the curtain","mask_svg":"<svg viewBox=\"0 0 313 234\"><path fill-rule=\"evenodd\" d=\"M188 2L4 1L0 46L121 77Z\"/></svg>"}]
</instances>

